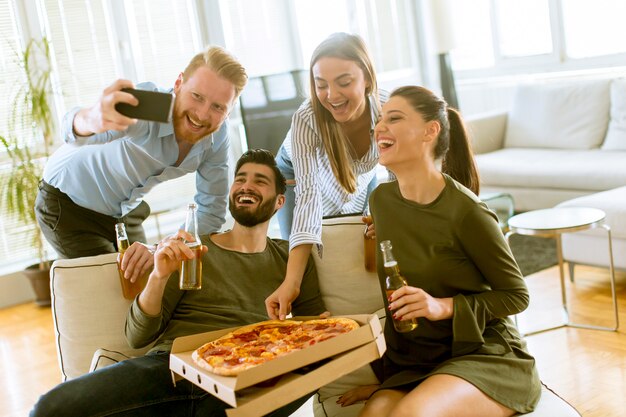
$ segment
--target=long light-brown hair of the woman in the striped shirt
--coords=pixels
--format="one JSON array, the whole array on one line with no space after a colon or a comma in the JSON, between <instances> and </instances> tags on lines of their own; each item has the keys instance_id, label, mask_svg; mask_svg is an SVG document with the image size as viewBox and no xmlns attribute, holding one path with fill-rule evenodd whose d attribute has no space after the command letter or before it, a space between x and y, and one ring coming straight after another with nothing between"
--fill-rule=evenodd
<instances>
[{"instance_id":1,"label":"long light-brown hair of the woman in the striped shirt","mask_svg":"<svg viewBox=\"0 0 626 417\"><path fill-rule=\"evenodd\" d=\"M370 58L363 39L358 35L343 32L333 33L322 41L313 51L309 65L311 106L313 108L315 121L321 132L322 144L328 155L330 167L333 170L333 174L335 174L335 178L337 178L337 181L344 190L352 194L356 192L357 181L352 168L350 142L332 114L322 106L316 94L313 66L318 60L324 57L354 61L363 70L365 80L369 83L369 87L365 90L365 95L370 96L373 94L376 106L380 108L376 72L374 71L374 63Z\"/></svg>"}]
</instances>

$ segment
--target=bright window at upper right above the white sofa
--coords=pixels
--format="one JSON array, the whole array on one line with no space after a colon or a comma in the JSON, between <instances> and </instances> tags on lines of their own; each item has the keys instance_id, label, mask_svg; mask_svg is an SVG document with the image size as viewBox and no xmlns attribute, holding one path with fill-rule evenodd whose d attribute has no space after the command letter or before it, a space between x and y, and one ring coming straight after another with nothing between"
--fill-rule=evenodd
<instances>
[{"instance_id":1,"label":"bright window at upper right above the white sofa","mask_svg":"<svg viewBox=\"0 0 626 417\"><path fill-rule=\"evenodd\" d=\"M623 65L623 0L451 3L457 38L452 65L461 78Z\"/></svg>"}]
</instances>

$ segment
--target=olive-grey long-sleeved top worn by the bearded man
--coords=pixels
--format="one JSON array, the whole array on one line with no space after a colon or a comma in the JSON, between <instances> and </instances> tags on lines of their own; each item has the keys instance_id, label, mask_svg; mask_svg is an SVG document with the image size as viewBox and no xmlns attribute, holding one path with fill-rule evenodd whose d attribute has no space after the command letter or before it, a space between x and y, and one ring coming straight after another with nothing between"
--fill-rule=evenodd
<instances>
[{"instance_id":1,"label":"olive-grey long-sleeved top worn by the bearded man","mask_svg":"<svg viewBox=\"0 0 626 417\"><path fill-rule=\"evenodd\" d=\"M265 299L283 282L288 242L268 238L265 250L258 253L221 248L209 236L203 236L202 243L209 248L202 258L202 289L180 290L175 272L165 288L161 314L145 314L135 299L126 318L131 346L146 346L158 338L150 351L170 351L177 337L268 319ZM312 258L292 309L294 315L306 316L325 311Z\"/></svg>"}]
</instances>

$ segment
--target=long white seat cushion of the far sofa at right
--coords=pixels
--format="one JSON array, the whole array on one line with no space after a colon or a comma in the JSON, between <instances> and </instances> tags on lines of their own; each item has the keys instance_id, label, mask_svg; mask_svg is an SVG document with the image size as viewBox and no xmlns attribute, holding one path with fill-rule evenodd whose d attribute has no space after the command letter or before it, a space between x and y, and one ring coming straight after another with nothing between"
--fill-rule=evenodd
<instances>
[{"instance_id":1,"label":"long white seat cushion of the far sofa at right","mask_svg":"<svg viewBox=\"0 0 626 417\"><path fill-rule=\"evenodd\" d=\"M604 191L626 184L626 151L507 148L476 155L481 184Z\"/></svg>"}]
</instances>

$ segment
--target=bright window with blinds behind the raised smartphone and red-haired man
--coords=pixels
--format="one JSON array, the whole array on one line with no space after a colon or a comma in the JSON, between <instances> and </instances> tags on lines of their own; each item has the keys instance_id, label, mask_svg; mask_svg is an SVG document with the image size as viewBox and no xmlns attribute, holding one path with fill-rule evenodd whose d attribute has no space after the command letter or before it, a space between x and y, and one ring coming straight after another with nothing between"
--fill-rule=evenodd
<instances>
[{"instance_id":1,"label":"bright window with blinds behind the raised smartphone and red-haired man","mask_svg":"<svg viewBox=\"0 0 626 417\"><path fill-rule=\"evenodd\" d=\"M43 4L63 92L61 114L95 102L117 78L173 87L201 49L190 1L44 0Z\"/></svg>"}]
</instances>

